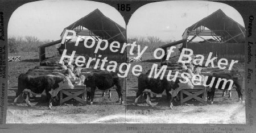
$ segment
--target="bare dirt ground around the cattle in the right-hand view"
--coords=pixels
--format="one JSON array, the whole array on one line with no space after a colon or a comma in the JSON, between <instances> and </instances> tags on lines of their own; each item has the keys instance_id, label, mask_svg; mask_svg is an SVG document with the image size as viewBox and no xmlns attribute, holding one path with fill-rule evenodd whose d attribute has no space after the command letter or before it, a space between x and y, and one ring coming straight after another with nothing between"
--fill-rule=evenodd
<instances>
[{"instance_id":1,"label":"bare dirt ground around the cattle in the right-hand view","mask_svg":"<svg viewBox=\"0 0 256 133\"><path fill-rule=\"evenodd\" d=\"M159 62L142 62L131 65L141 65L143 72L151 69L152 64ZM244 74L243 63L234 68L240 69ZM138 90L138 77L129 73L127 76L126 90L126 123L197 123L197 124L246 124L245 103L238 101L236 90L232 89L232 97L221 97L222 91L215 93L213 105L203 105L197 101L188 101L184 105L174 102L173 109L168 109L166 96L160 95L151 99L152 107L149 107L144 98L139 98L138 106L134 105L135 95Z\"/></svg>"}]
</instances>

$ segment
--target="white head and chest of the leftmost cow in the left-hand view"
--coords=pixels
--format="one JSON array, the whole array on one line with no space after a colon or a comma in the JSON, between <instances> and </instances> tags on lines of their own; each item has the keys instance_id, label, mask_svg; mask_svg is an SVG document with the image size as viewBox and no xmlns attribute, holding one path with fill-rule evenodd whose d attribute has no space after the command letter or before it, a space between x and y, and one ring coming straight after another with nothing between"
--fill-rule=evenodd
<instances>
[{"instance_id":1,"label":"white head and chest of the leftmost cow in the left-hand view","mask_svg":"<svg viewBox=\"0 0 256 133\"><path fill-rule=\"evenodd\" d=\"M55 97L57 95L57 93L60 92L61 89L74 89L75 86L73 86L72 82L69 80L68 76L65 76L63 78L63 81L59 82L59 87L56 89L51 89L51 91L49 92L49 94L52 95L52 97Z\"/></svg>"}]
</instances>

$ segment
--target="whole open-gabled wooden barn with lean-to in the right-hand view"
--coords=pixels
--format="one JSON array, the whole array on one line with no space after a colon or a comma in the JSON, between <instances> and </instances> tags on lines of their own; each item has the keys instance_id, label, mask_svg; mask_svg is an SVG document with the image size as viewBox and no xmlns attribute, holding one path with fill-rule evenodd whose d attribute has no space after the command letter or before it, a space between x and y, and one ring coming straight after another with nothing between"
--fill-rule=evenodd
<instances>
[{"instance_id":1,"label":"whole open-gabled wooden barn with lean-to in the right-hand view","mask_svg":"<svg viewBox=\"0 0 256 133\"><path fill-rule=\"evenodd\" d=\"M193 41L195 38L203 39L203 41ZM225 58L229 61L243 62L245 59L244 43L245 27L219 9L186 28L181 40L163 45L161 48L167 51L168 47L179 44L178 48L192 49L195 55L200 54L206 57L213 52L218 59Z\"/></svg>"}]
</instances>

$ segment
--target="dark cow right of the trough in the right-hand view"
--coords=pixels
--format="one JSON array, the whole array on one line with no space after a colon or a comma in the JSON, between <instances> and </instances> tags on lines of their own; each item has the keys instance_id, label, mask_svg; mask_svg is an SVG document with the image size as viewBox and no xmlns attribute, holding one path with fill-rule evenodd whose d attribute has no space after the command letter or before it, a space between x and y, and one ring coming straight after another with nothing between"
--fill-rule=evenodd
<instances>
[{"instance_id":1,"label":"dark cow right of the trough in the right-hand view","mask_svg":"<svg viewBox=\"0 0 256 133\"><path fill-rule=\"evenodd\" d=\"M233 77L232 74L230 74L230 73L209 73L209 74L207 74L207 76L208 76L207 85L209 85L210 82L212 81L212 78L215 77L215 80L214 80L212 88L211 88L211 92L208 92L208 99L211 100L211 102L210 102L211 104L213 104L214 93L216 90L218 78L222 78L222 79L224 78L226 80L233 80L232 88L235 88L237 90L238 98L239 98L238 101L241 101L241 103L242 103L243 94L242 94L242 88L241 88L240 82L238 81L238 77ZM205 77L207 77L207 76L205 76ZM220 85L218 85L217 89L222 89L223 84L224 84L224 81L221 81ZM224 90L227 90L229 88L229 85L230 85L230 82L227 82Z\"/></svg>"}]
</instances>

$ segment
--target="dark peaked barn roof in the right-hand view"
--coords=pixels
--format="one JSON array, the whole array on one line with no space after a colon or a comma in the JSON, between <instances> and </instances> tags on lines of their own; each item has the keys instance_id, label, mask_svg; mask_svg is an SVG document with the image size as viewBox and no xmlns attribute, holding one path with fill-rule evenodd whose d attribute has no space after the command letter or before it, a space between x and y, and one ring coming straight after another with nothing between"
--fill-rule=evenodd
<instances>
[{"instance_id":1,"label":"dark peaked barn roof in the right-hand view","mask_svg":"<svg viewBox=\"0 0 256 133\"><path fill-rule=\"evenodd\" d=\"M220 9L186 28L183 32L183 36L185 33L187 33L187 35L191 34L193 30L200 26L207 27L209 30L221 36L228 36L229 38L234 37L236 40L245 39L245 27L229 18Z\"/></svg>"}]
</instances>

